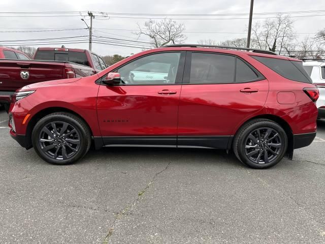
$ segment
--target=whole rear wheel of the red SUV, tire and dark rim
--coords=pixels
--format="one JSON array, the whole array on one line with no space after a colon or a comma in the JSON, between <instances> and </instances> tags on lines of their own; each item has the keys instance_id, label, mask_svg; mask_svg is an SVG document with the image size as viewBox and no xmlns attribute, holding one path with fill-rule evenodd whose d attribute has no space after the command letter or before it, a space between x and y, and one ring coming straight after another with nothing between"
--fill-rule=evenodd
<instances>
[{"instance_id":1,"label":"whole rear wheel of the red SUV, tire and dark rim","mask_svg":"<svg viewBox=\"0 0 325 244\"><path fill-rule=\"evenodd\" d=\"M283 128L272 120L260 118L249 121L239 129L233 150L246 166L266 169L282 160L287 146L288 138Z\"/></svg>"}]
</instances>

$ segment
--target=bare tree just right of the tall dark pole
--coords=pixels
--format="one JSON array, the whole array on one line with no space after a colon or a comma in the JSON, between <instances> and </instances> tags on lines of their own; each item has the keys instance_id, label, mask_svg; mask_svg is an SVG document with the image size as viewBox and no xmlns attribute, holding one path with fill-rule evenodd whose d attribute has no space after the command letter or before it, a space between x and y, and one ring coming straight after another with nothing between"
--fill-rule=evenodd
<instances>
[{"instance_id":1,"label":"bare tree just right of the tall dark pole","mask_svg":"<svg viewBox=\"0 0 325 244\"><path fill-rule=\"evenodd\" d=\"M252 27L254 39L252 45L281 54L284 47L296 39L293 24L288 16L281 14L274 20L266 20L263 24L256 22Z\"/></svg>"}]
</instances>

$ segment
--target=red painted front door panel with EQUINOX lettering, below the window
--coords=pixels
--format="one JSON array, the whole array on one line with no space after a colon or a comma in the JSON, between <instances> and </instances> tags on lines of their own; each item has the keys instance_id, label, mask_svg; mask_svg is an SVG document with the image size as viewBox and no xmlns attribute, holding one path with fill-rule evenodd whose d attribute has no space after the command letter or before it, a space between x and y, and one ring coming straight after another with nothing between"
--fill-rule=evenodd
<instances>
[{"instance_id":1,"label":"red painted front door panel with EQUINOX lettering, below the window","mask_svg":"<svg viewBox=\"0 0 325 244\"><path fill-rule=\"evenodd\" d=\"M158 94L163 89L176 94ZM180 91L181 84L102 85L97 105L102 136L176 136Z\"/></svg>"}]
</instances>

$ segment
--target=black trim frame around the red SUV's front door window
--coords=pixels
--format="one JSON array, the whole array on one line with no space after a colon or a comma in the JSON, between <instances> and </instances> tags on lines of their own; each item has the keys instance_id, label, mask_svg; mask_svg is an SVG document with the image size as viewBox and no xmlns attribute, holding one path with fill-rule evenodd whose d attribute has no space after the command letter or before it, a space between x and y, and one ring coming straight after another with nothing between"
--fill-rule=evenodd
<instances>
[{"instance_id":1,"label":"black trim frame around the red SUV's front door window","mask_svg":"<svg viewBox=\"0 0 325 244\"><path fill-rule=\"evenodd\" d=\"M134 58L132 60L129 60L128 62L126 62L125 64L122 64L121 66L115 68L114 70L110 71L110 72L114 72L115 70L118 70L122 67L124 67L125 65L128 65L129 63L132 63L142 57L146 57L146 56L150 56L150 55L154 55L154 54L159 54L159 53L173 53L173 52L179 52L180 53L180 57L179 57L179 62L178 62L178 68L177 68L177 74L176 74L176 78L175 78L175 83L165 83L165 84L117 84L114 86L148 86L148 85L181 85L182 84L182 80L183 80L183 75L184 75L184 66L185 66L185 58L186 58L186 51L184 50L174 50L174 51L159 51L159 52L151 52L151 53L147 53L145 55L139 56L137 58ZM108 72L108 73L110 73ZM106 86L112 86L112 85L107 85L105 83L102 82L102 80L106 77L106 75L108 74L104 74L101 78L99 78L98 80L95 81L96 84L99 85L106 85Z\"/></svg>"}]
</instances>

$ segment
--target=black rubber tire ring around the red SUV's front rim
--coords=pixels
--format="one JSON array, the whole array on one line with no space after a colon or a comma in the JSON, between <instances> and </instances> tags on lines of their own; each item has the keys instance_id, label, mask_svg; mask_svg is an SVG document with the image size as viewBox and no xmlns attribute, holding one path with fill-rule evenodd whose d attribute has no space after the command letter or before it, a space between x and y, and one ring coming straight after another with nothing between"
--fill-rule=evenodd
<instances>
[{"instance_id":1,"label":"black rubber tire ring around the red SUV's front rim","mask_svg":"<svg viewBox=\"0 0 325 244\"><path fill-rule=\"evenodd\" d=\"M52 159L48 156L46 156L41 149L41 146L39 144L39 135L43 129L44 126L46 126L47 124L54 122L54 121L62 121L62 122L66 122L69 123L70 125L72 125L76 131L78 132L78 134L80 135L80 147L78 152L71 158L66 159L66 160L56 160L56 159ZM84 155L84 151L87 149L87 139L86 139L86 133L84 132L84 129L82 128L82 126L79 124L79 122L69 116L65 116L65 115L59 115L59 114L50 114L48 116L45 116L44 118L42 118L34 127L34 130L32 131L31 134L31 141L32 141L32 145L34 146L36 153L46 162L51 163L51 164L58 164L58 165L67 165L67 164L71 164L75 161L77 161L78 159L80 159L83 155Z\"/></svg>"}]
</instances>

